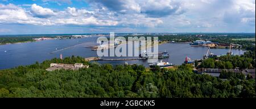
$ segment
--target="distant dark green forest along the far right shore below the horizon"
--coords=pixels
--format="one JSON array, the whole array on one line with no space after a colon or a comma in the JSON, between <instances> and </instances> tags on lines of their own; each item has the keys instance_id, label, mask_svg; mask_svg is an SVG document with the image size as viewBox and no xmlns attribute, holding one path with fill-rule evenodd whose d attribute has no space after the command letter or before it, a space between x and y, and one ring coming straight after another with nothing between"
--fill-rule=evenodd
<instances>
[{"instance_id":1,"label":"distant dark green forest along the far right shore below the horizon","mask_svg":"<svg viewBox=\"0 0 256 109\"><path fill-rule=\"evenodd\" d=\"M138 37L158 37L159 41L193 42L196 40L212 41L222 44L239 44L243 50L255 50L255 41L240 40L243 38L255 38L255 33L179 33L176 35L140 35ZM129 36L125 36L127 39ZM134 36L130 36L134 37ZM153 39L153 38L151 38ZM253 46L254 44L254 46Z\"/></svg>"}]
</instances>

